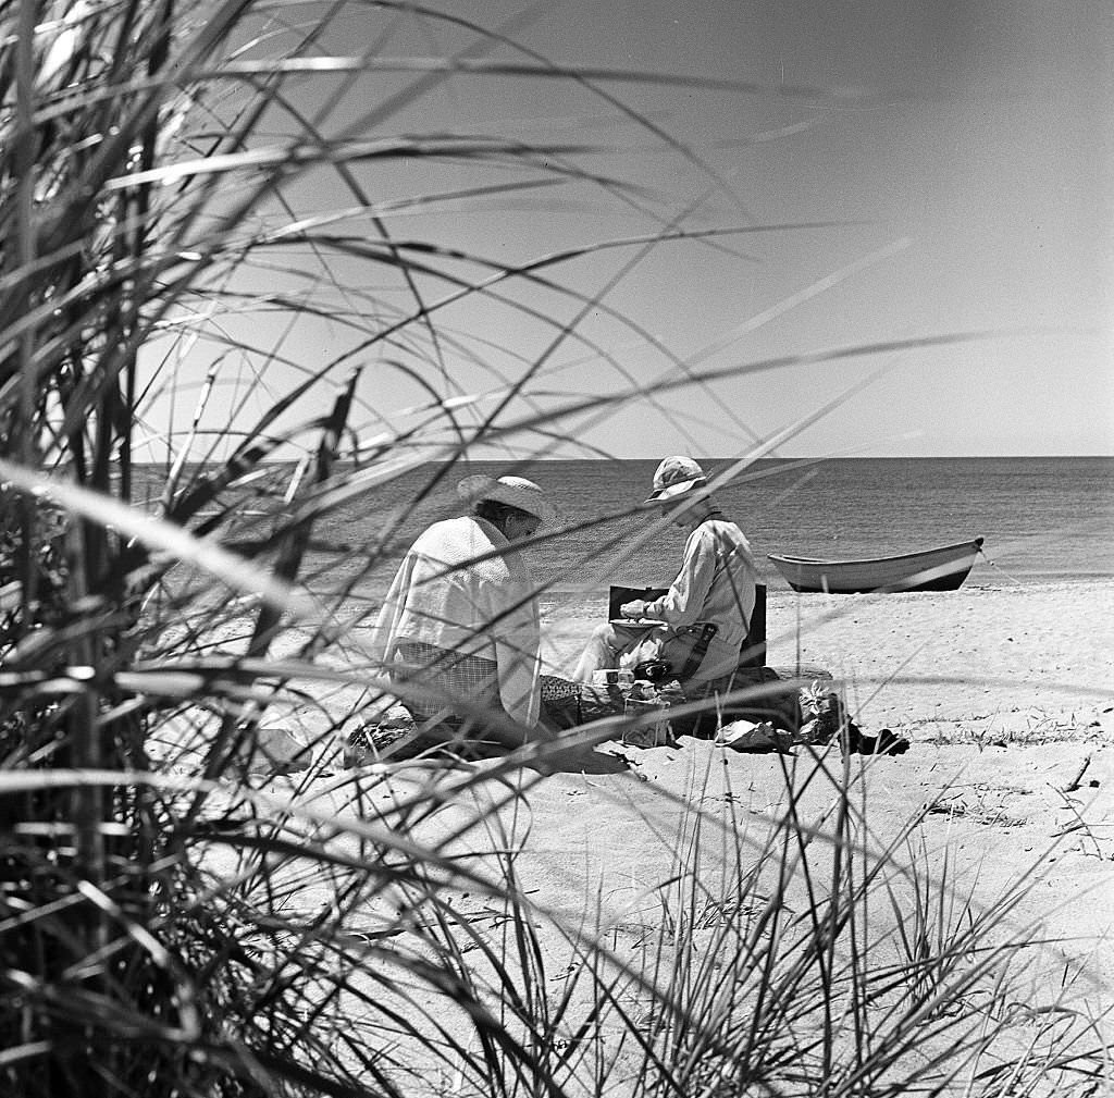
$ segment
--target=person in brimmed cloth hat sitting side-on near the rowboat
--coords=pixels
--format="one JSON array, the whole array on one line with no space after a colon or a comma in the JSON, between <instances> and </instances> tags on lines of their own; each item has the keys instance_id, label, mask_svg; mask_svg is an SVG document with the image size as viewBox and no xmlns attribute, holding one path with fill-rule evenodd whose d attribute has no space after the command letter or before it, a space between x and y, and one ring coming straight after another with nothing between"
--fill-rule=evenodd
<instances>
[{"instance_id":1,"label":"person in brimmed cloth hat sitting side-on near the rowboat","mask_svg":"<svg viewBox=\"0 0 1114 1098\"><path fill-rule=\"evenodd\" d=\"M590 682L603 668L664 660L687 694L726 689L754 611L758 572L750 544L724 518L704 470L692 458L665 458L645 503L657 504L663 517L688 531L684 558L664 595L624 603L619 612L664 624L598 626L574 678Z\"/></svg>"}]
</instances>

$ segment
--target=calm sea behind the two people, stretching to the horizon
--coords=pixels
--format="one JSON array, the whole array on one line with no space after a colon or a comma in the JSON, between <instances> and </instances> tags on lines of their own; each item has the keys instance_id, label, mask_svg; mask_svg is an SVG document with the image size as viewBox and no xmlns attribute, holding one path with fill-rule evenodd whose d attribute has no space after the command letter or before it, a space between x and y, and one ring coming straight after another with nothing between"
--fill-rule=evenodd
<instances>
[{"instance_id":1,"label":"calm sea behind the two people, stretching to the horizon","mask_svg":"<svg viewBox=\"0 0 1114 1098\"><path fill-rule=\"evenodd\" d=\"M710 475L725 460L704 460ZM466 474L516 473L536 480L567 529L528 550L544 603L606 592L609 583L667 584L683 531L651 527L638 512L656 460L471 463L449 470L417 507L436 469L408 473L345 505L317 529L323 541L373 544L400 515L389 552L363 574L353 557L331 565L355 579L353 594L378 603L393 564L436 518L459 514ZM836 458L762 460L716 492L747 536L760 579L789 590L768 553L882 556L981 535L970 586L1083 582L1114 576L1114 458ZM321 565L330 567L326 557ZM359 574L358 574L359 573ZM322 576L323 577L323 576ZM578 600L577 600L578 601Z\"/></svg>"}]
</instances>

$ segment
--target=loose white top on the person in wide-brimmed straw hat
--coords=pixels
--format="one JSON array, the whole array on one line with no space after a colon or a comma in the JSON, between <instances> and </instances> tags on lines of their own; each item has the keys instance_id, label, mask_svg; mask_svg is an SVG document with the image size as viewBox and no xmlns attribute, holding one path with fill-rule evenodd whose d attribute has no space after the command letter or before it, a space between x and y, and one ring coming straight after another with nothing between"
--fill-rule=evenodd
<instances>
[{"instance_id":1,"label":"loose white top on the person in wide-brimmed straw hat","mask_svg":"<svg viewBox=\"0 0 1114 1098\"><path fill-rule=\"evenodd\" d=\"M436 644L495 662L502 708L532 726L540 709L541 629L522 554L483 518L434 523L403 557L371 639L389 665L399 644Z\"/></svg>"}]
</instances>

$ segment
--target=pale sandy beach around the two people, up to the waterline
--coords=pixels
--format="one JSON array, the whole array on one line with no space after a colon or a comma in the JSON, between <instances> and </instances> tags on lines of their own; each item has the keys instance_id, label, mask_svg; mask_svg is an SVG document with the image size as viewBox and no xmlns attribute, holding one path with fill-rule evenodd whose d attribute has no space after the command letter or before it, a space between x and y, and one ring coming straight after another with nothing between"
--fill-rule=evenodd
<instances>
[{"instance_id":1,"label":"pale sandy beach around the two people, up to the waterline","mask_svg":"<svg viewBox=\"0 0 1114 1098\"><path fill-rule=\"evenodd\" d=\"M575 659L593 609L546 615L555 665ZM831 869L838 789L849 781L863 864L881 859L895 880L913 867L934 882L941 897L934 910L949 932L998 908L983 943L1026 943L1010 984L1008 1010L1017 1017L1007 1018L1007 1031L1024 1040L1046 1009L1098 1018L1114 988L1112 623L1114 581L880 596L774 592L768 663L828 669L862 729L906 737L903 755L844 760L838 745L744 754L682 737L649 749L605 740L545 767L492 760L446 771L411 760L344 770L340 738L322 727L314 770L270 789L281 794L293 783L301 804L329 819L382 812L388 823L411 798L421 803L431 790L440 798L468 774L496 771L498 783L446 796L410 834L481 872L497 864L485 845L516 851L518 883L545 913L537 934L547 979L559 981L583 965L569 941L579 931L598 933L619 962L644 968L674 925L677 880L698 880L710 911L729 904L733 882L752 869L754 895L768 895L780 858L761 852L790 805L814 834L818 864L829 866L814 869L811 883L798 875L786 886L785 910L808 911L807 891L817 881L822 890ZM360 632L350 638L354 649ZM323 720L351 688L330 697L319 684L316 694L321 709L310 716ZM695 845L694 830L702 833ZM306 911L329 902L325 887L303 887L296 900ZM505 917L490 904L463 893L455 902L480 913L477 932L492 941L504 933ZM878 963L900 961L906 904L912 901L900 886L872 903L861 932ZM625 994L637 1012L637 989Z\"/></svg>"}]
</instances>

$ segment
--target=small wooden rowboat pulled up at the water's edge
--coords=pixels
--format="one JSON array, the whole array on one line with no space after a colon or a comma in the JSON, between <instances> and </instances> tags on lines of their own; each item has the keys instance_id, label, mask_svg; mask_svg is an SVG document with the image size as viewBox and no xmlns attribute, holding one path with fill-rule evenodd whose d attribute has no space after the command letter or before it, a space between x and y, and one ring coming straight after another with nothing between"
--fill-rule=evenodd
<instances>
[{"instance_id":1,"label":"small wooden rowboat pulled up at the water's edge","mask_svg":"<svg viewBox=\"0 0 1114 1098\"><path fill-rule=\"evenodd\" d=\"M860 594L868 591L955 591L962 585L983 538L919 553L859 561L768 554L794 591Z\"/></svg>"}]
</instances>

